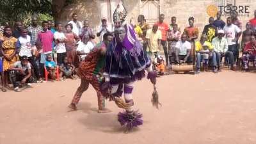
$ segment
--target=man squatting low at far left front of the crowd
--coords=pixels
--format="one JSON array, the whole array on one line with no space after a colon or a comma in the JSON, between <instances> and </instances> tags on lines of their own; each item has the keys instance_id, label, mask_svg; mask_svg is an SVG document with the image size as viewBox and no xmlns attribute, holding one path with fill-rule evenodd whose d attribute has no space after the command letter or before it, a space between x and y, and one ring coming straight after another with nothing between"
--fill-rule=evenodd
<instances>
[{"instance_id":1,"label":"man squatting low at far left front of the crowd","mask_svg":"<svg viewBox=\"0 0 256 144\"><path fill-rule=\"evenodd\" d=\"M31 64L28 61L27 56L22 56L21 61L17 61L11 65L10 68L10 79L13 83L15 92L21 92L19 86L31 86L29 84L31 77Z\"/></svg>"}]
</instances>

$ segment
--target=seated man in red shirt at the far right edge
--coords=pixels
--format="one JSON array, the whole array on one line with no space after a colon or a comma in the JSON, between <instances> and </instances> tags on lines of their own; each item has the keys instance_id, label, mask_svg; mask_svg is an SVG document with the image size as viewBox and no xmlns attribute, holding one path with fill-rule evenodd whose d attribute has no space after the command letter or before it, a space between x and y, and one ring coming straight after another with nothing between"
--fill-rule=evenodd
<instances>
[{"instance_id":1,"label":"seated man in red shirt at the far right edge","mask_svg":"<svg viewBox=\"0 0 256 144\"><path fill-rule=\"evenodd\" d=\"M249 60L254 60L254 63L256 61L256 40L255 36L251 36L250 42L246 43L243 51L243 64L244 64L244 70L248 70L249 68Z\"/></svg>"}]
</instances>

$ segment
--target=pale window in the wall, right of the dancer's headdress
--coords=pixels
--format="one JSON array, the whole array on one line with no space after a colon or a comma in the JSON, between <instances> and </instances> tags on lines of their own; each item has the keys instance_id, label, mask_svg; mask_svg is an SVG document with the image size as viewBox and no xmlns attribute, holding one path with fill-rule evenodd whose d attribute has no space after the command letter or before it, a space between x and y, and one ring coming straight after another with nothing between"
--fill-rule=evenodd
<instances>
[{"instance_id":1,"label":"pale window in the wall, right of the dancer's headdress","mask_svg":"<svg viewBox=\"0 0 256 144\"><path fill-rule=\"evenodd\" d=\"M140 13L148 23L154 23L159 17L159 0L141 0Z\"/></svg>"}]
</instances>

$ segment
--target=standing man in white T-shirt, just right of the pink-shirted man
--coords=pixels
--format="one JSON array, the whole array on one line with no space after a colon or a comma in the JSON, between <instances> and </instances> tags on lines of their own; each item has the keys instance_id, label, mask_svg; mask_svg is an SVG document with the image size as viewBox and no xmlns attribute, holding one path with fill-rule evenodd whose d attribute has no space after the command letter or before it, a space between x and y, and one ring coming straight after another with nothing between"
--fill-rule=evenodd
<instances>
[{"instance_id":1,"label":"standing man in white T-shirt, just right of the pink-shirted man","mask_svg":"<svg viewBox=\"0 0 256 144\"><path fill-rule=\"evenodd\" d=\"M67 40L65 34L62 31L61 23L56 24L57 31L54 33L53 38L56 43L56 52L57 52L57 63L60 66L64 58L66 57L66 47L65 41Z\"/></svg>"}]
</instances>

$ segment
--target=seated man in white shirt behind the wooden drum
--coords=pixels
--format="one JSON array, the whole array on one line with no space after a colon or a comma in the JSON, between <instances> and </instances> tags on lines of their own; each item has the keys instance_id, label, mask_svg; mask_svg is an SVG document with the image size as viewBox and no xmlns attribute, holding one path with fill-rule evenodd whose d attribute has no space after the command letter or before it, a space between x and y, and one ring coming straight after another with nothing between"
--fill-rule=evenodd
<instances>
[{"instance_id":1,"label":"seated man in white shirt behind the wooden drum","mask_svg":"<svg viewBox=\"0 0 256 144\"><path fill-rule=\"evenodd\" d=\"M180 63L180 60L184 60L184 63L191 63L190 53L191 44L187 41L187 35L183 34L175 45L175 62Z\"/></svg>"}]
</instances>

